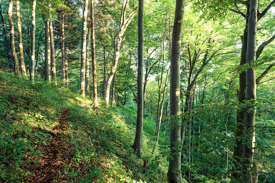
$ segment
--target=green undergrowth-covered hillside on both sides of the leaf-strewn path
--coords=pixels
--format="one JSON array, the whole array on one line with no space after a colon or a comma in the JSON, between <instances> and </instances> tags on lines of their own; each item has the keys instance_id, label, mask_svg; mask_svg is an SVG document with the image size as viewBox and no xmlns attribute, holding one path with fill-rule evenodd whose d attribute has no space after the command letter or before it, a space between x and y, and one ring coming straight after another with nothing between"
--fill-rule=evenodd
<instances>
[{"instance_id":1,"label":"green undergrowth-covered hillside on both sides of the leaf-strewn path","mask_svg":"<svg viewBox=\"0 0 275 183\"><path fill-rule=\"evenodd\" d=\"M152 120L144 121L142 159L133 155L134 107L100 107L95 113L89 98L67 88L57 89L44 81L30 85L2 72L0 93L0 182L35 180L35 170L45 164L39 159L46 159L45 149L53 149L51 143L57 143L60 154L58 175L51 178L54 182L165 182L167 162L162 159L158 171L147 168L142 173L143 160L149 159L150 165L153 159ZM69 109L67 127L53 137L45 129L63 126L59 123L64 109ZM166 140L160 138L160 146Z\"/></svg>"}]
</instances>

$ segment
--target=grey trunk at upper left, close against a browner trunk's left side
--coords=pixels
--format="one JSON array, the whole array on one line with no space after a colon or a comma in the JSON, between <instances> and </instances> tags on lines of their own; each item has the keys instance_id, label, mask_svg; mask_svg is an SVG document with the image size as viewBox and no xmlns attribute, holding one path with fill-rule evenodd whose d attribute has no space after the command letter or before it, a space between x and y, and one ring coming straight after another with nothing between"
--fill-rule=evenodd
<instances>
[{"instance_id":1,"label":"grey trunk at upper left, close against a browner trunk's left side","mask_svg":"<svg viewBox=\"0 0 275 183\"><path fill-rule=\"evenodd\" d=\"M44 63L45 63L45 81L51 81L51 47L50 47L50 32L49 32L49 21L45 20L44 15L42 18L45 25L45 54L44 54Z\"/></svg>"}]
</instances>

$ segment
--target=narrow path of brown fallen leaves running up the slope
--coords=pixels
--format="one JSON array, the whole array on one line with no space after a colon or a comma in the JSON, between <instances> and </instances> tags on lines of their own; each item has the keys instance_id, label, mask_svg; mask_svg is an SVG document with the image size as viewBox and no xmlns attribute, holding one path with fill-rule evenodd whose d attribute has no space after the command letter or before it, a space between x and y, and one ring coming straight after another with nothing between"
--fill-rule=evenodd
<instances>
[{"instance_id":1,"label":"narrow path of brown fallen leaves running up the slope","mask_svg":"<svg viewBox=\"0 0 275 183\"><path fill-rule=\"evenodd\" d=\"M57 121L59 125L54 126L52 131L57 135L57 137L50 136L46 138L47 145L42 143L36 144L37 148L35 151L38 154L43 154L35 158L30 155L28 159L39 159L37 163L26 163L25 166L21 167L22 169L29 170L29 178L24 178L24 181L27 183L49 183L49 182L62 182L67 183L70 180L74 182L76 179L72 176L68 176L67 172L76 170L76 167L79 166L73 163L74 157L74 148L70 143L66 142L64 133L67 130L68 124L68 109L64 109L60 115L59 120ZM67 172L65 173L64 170ZM67 179L68 178L68 179Z\"/></svg>"}]
</instances>

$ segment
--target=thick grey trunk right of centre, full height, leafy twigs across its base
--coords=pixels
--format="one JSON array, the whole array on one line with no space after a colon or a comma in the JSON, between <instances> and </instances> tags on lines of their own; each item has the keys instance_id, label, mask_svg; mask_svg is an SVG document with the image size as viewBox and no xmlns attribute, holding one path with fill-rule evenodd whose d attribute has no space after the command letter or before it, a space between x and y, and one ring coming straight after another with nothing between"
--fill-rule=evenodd
<instances>
[{"instance_id":1,"label":"thick grey trunk right of centre, full height, leafy twigs across its base","mask_svg":"<svg viewBox=\"0 0 275 183\"><path fill-rule=\"evenodd\" d=\"M167 179L171 183L181 183L181 146L177 143L181 142L180 121L180 45L182 35L182 22L184 1L176 0L175 19L172 34L171 48L171 79L170 79L170 150L171 156L167 172ZM173 155L173 153L175 153ZM179 155L179 156L178 156Z\"/></svg>"}]
</instances>

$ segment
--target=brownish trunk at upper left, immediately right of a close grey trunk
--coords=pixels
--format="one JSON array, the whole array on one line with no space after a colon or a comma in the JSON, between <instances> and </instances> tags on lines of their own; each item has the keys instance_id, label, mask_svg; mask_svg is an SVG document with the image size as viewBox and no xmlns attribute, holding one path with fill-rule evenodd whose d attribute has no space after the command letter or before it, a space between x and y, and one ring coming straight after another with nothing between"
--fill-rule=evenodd
<instances>
[{"instance_id":1,"label":"brownish trunk at upper left, immediately right of a close grey trunk","mask_svg":"<svg viewBox=\"0 0 275 183\"><path fill-rule=\"evenodd\" d=\"M51 14L50 14L50 19L52 19ZM53 40L53 23L51 21L49 21L49 31L50 31L50 46L51 46L51 79L54 80L54 84L57 84L55 51L54 51L54 40Z\"/></svg>"}]
</instances>

